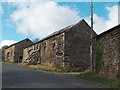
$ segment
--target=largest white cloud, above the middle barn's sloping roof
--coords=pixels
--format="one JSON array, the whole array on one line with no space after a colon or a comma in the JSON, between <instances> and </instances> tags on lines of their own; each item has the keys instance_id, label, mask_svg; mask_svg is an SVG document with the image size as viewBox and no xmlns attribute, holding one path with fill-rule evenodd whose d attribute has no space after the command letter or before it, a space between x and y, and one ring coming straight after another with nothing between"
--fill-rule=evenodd
<instances>
[{"instance_id":1,"label":"largest white cloud, above the middle barn's sloping roof","mask_svg":"<svg viewBox=\"0 0 120 90\"><path fill-rule=\"evenodd\" d=\"M17 32L32 33L37 37L62 29L80 20L78 12L67 6L60 6L53 1L22 4L11 14L12 21L17 25Z\"/></svg>"}]
</instances>

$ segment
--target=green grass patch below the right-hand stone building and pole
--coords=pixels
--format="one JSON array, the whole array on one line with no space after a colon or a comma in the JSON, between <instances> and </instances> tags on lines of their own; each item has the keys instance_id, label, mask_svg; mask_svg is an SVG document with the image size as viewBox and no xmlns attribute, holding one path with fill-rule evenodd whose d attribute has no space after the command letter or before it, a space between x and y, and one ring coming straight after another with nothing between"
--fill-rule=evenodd
<instances>
[{"instance_id":1,"label":"green grass patch below the right-hand stone building and pole","mask_svg":"<svg viewBox=\"0 0 120 90\"><path fill-rule=\"evenodd\" d=\"M80 74L76 76L77 79L84 79L88 81L95 82L98 86L104 88L118 88L118 79L102 77L95 73L87 72L85 74Z\"/></svg>"}]
</instances>

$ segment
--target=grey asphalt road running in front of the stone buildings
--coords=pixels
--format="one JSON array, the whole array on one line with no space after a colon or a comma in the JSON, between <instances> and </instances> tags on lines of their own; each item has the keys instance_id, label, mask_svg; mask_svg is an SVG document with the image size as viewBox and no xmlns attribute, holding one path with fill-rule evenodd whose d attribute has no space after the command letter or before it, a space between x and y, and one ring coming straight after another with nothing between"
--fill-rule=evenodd
<instances>
[{"instance_id":1,"label":"grey asphalt road running in front of the stone buildings","mask_svg":"<svg viewBox=\"0 0 120 90\"><path fill-rule=\"evenodd\" d=\"M3 88L96 88L90 82L13 64L3 64L2 70Z\"/></svg>"}]
</instances>

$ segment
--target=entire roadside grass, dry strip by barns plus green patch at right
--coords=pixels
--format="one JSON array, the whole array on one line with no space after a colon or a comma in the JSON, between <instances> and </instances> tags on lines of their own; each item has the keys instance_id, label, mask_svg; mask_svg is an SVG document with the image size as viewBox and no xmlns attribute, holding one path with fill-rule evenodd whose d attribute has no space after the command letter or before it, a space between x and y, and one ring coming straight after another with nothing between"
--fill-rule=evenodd
<instances>
[{"instance_id":1,"label":"entire roadside grass, dry strip by barns plus green patch at right","mask_svg":"<svg viewBox=\"0 0 120 90\"><path fill-rule=\"evenodd\" d=\"M79 70L64 69L62 67L26 65L22 63L11 63L11 64L15 64L15 65L25 67L25 68L30 68L32 70L42 70L42 71L48 71L48 72L59 72L59 73L80 72ZM90 73L90 72L81 73L80 75L75 76L75 78L95 82L98 86L104 87L104 88L118 88L119 86L118 79L106 78L106 77L102 77L98 74Z\"/></svg>"}]
</instances>

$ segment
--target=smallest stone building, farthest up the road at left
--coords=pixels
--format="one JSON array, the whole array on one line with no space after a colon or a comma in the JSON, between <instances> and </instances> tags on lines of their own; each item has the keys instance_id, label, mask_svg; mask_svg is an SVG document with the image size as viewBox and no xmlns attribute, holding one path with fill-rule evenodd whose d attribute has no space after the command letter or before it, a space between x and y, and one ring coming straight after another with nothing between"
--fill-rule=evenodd
<instances>
[{"instance_id":1,"label":"smallest stone building, farthest up the road at left","mask_svg":"<svg viewBox=\"0 0 120 90\"><path fill-rule=\"evenodd\" d=\"M32 44L32 41L24 39L19 41L18 43L10 45L7 49L5 49L5 61L7 62L22 62L23 59L23 49Z\"/></svg>"}]
</instances>

